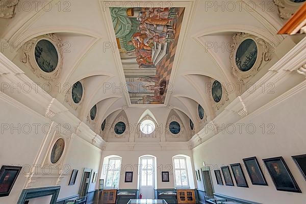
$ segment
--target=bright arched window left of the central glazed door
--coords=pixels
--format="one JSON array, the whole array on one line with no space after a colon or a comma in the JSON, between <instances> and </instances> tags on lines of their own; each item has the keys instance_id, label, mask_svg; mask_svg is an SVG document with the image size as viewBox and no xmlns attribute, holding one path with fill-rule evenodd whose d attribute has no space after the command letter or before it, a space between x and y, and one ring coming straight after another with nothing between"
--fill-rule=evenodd
<instances>
[{"instance_id":1,"label":"bright arched window left of the central glazed door","mask_svg":"<svg viewBox=\"0 0 306 204\"><path fill-rule=\"evenodd\" d=\"M103 174L105 175L104 188L119 188L121 158L118 156L109 156L103 162Z\"/></svg>"}]
</instances>

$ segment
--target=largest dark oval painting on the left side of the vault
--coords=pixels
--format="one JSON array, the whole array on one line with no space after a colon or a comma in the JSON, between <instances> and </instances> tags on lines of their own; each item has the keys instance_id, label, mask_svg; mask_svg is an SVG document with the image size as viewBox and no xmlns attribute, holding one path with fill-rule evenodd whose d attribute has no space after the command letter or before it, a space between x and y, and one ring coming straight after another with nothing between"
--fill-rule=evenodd
<instances>
[{"instance_id":1,"label":"largest dark oval painting on the left side of the vault","mask_svg":"<svg viewBox=\"0 0 306 204\"><path fill-rule=\"evenodd\" d=\"M35 46L35 60L44 72L53 72L59 62L55 46L48 40L40 40Z\"/></svg>"}]
</instances>

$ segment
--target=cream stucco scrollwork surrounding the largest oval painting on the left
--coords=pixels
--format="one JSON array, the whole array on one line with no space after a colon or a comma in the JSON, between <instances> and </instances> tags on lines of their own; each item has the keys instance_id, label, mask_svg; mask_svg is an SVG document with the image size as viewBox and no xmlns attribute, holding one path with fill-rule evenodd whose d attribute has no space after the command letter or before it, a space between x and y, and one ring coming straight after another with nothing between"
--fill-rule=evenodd
<instances>
[{"instance_id":1,"label":"cream stucco scrollwork surrounding the largest oval painting on the left","mask_svg":"<svg viewBox=\"0 0 306 204\"><path fill-rule=\"evenodd\" d=\"M35 59L36 44L40 40L49 41L50 43L54 45L57 51L58 63L57 63L56 68L51 72L43 71L39 67ZM20 61L24 64L29 64L29 66L32 68L33 72L37 75L38 78L43 78L46 81L54 81L59 77L59 74L63 68L63 43L61 42L61 39L57 37L54 33L49 33L46 35L42 35L42 36L33 38L29 40L28 42L24 43L20 47L19 50L21 53Z\"/></svg>"}]
</instances>

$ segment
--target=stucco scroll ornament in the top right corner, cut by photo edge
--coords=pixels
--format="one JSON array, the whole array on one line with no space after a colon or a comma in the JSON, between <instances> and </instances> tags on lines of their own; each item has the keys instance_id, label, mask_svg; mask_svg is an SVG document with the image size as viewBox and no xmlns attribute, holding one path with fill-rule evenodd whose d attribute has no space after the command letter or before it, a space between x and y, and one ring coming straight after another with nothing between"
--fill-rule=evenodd
<instances>
[{"instance_id":1,"label":"stucco scroll ornament in the top right corner, cut by photo edge","mask_svg":"<svg viewBox=\"0 0 306 204\"><path fill-rule=\"evenodd\" d=\"M289 19L296 12L296 10L304 3L296 3L290 0L273 0L273 2L277 6L279 17L283 19Z\"/></svg>"}]
</instances>

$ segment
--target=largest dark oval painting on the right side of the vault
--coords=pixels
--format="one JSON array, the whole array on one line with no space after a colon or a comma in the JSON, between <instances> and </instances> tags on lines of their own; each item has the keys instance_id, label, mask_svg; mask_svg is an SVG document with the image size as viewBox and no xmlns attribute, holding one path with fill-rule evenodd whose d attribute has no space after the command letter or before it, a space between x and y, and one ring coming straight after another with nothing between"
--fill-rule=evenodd
<instances>
[{"instance_id":1,"label":"largest dark oval painting on the right side of the vault","mask_svg":"<svg viewBox=\"0 0 306 204\"><path fill-rule=\"evenodd\" d=\"M236 65L241 71L250 70L257 59L257 44L252 39L244 40L236 52Z\"/></svg>"}]
</instances>

